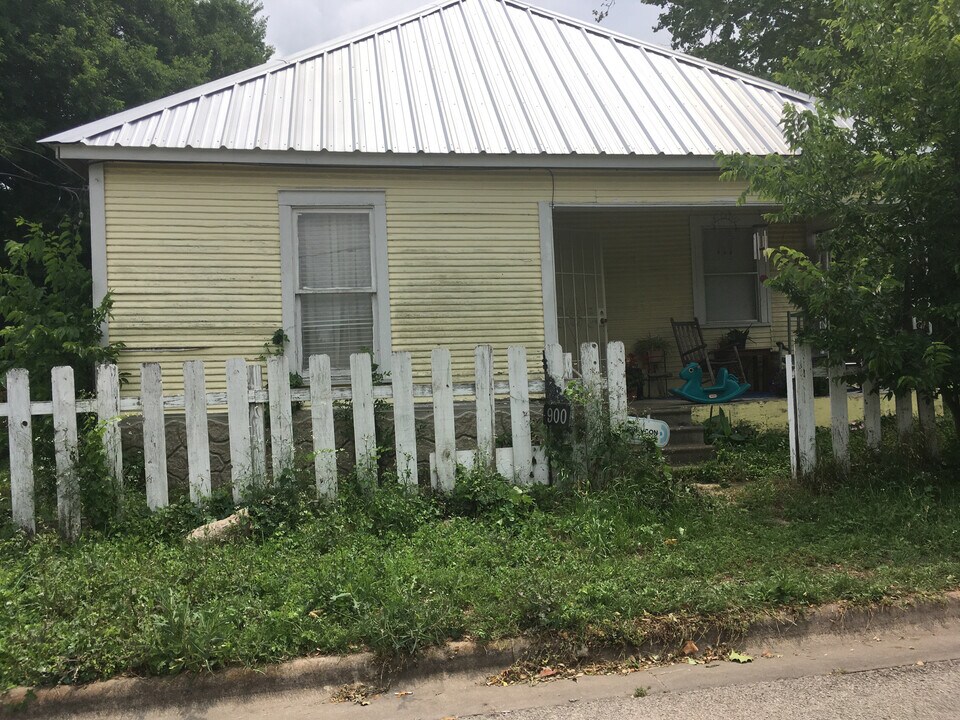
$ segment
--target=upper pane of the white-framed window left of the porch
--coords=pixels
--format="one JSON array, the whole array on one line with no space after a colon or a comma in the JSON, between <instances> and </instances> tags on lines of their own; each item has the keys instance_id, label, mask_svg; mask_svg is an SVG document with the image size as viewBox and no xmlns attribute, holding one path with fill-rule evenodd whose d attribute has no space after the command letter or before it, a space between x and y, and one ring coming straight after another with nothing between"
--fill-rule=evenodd
<instances>
[{"instance_id":1,"label":"upper pane of the white-framed window left of the porch","mask_svg":"<svg viewBox=\"0 0 960 720\"><path fill-rule=\"evenodd\" d=\"M370 215L297 216L300 288L371 287Z\"/></svg>"}]
</instances>

